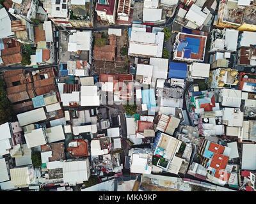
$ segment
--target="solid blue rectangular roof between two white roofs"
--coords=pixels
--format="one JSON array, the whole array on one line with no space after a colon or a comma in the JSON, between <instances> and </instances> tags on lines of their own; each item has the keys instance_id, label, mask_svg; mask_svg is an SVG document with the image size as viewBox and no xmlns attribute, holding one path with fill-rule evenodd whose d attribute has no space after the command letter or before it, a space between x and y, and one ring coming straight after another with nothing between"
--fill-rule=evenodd
<instances>
[{"instance_id":1,"label":"solid blue rectangular roof between two white roofs","mask_svg":"<svg viewBox=\"0 0 256 204\"><path fill-rule=\"evenodd\" d=\"M180 62L170 62L168 78L187 78L187 64Z\"/></svg>"}]
</instances>

